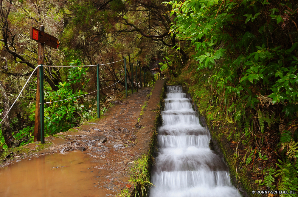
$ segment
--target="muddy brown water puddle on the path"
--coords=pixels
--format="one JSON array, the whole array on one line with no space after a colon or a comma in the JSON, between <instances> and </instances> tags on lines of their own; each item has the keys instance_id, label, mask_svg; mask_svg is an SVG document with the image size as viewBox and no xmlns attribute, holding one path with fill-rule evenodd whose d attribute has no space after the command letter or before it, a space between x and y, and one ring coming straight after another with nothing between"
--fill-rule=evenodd
<instances>
[{"instance_id":1,"label":"muddy brown water puddle on the path","mask_svg":"<svg viewBox=\"0 0 298 197\"><path fill-rule=\"evenodd\" d=\"M98 164L79 151L23 160L0 169L0 196L105 196Z\"/></svg>"}]
</instances>

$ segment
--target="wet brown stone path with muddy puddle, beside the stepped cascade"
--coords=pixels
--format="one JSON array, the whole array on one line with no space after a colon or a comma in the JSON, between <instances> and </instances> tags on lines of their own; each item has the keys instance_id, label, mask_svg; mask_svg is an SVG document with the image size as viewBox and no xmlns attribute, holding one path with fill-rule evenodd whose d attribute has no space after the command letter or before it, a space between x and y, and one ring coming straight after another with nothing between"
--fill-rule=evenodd
<instances>
[{"instance_id":1,"label":"wet brown stone path with muddy puddle, beside the stepped cascade","mask_svg":"<svg viewBox=\"0 0 298 197\"><path fill-rule=\"evenodd\" d=\"M130 187L133 161L148 153L163 86L164 80L156 81L139 123L151 88L129 95L100 119L46 138L43 150L31 143L13 153L0 166L6 180L0 196L116 196Z\"/></svg>"}]
</instances>

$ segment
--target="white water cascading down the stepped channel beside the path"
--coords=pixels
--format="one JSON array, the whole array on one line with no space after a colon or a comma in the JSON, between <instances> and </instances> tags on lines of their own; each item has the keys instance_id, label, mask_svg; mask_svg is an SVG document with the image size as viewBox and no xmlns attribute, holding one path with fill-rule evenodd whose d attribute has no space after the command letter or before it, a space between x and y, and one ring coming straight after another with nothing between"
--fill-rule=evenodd
<instances>
[{"instance_id":1,"label":"white water cascading down the stepped channel beside the path","mask_svg":"<svg viewBox=\"0 0 298 197\"><path fill-rule=\"evenodd\" d=\"M240 197L181 86L168 86L150 197Z\"/></svg>"}]
</instances>

